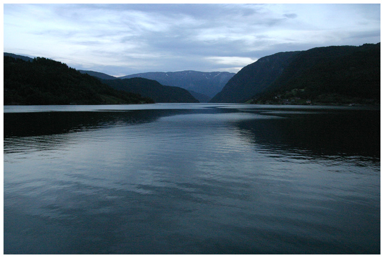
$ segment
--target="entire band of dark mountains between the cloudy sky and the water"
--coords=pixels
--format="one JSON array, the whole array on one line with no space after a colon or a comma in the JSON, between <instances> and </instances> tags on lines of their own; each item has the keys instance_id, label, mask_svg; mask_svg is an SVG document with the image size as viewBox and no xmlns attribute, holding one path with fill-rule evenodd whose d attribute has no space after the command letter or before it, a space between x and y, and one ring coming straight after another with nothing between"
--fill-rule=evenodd
<instances>
[{"instance_id":1,"label":"entire band of dark mountains between the cloudy sky and the water","mask_svg":"<svg viewBox=\"0 0 384 258\"><path fill-rule=\"evenodd\" d=\"M44 57L4 53L4 104L380 103L380 43L280 52L238 73L147 72L114 77Z\"/></svg>"}]
</instances>

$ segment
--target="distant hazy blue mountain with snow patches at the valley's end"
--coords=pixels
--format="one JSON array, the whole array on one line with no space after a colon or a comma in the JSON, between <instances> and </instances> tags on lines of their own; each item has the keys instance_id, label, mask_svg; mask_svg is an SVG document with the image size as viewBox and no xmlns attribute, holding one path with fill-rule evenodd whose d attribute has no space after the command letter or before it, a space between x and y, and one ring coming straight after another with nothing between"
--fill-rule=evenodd
<instances>
[{"instance_id":1,"label":"distant hazy blue mountain with snow patches at the valley's end","mask_svg":"<svg viewBox=\"0 0 384 258\"><path fill-rule=\"evenodd\" d=\"M234 75L234 73L229 72L180 71L137 73L119 78L141 77L151 79L163 85L177 86L213 97L223 89L224 85Z\"/></svg>"}]
</instances>

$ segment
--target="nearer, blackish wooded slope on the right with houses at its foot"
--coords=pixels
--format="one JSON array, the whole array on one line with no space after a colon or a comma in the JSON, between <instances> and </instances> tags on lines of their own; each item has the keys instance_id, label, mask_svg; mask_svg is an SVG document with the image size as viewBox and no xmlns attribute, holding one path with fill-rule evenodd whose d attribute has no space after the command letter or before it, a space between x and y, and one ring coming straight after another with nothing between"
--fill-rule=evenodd
<instances>
[{"instance_id":1,"label":"nearer, blackish wooded slope on the right with houses at its foot","mask_svg":"<svg viewBox=\"0 0 384 258\"><path fill-rule=\"evenodd\" d=\"M323 47L297 55L259 101L305 98L320 103L378 102L380 44Z\"/></svg>"}]
</instances>

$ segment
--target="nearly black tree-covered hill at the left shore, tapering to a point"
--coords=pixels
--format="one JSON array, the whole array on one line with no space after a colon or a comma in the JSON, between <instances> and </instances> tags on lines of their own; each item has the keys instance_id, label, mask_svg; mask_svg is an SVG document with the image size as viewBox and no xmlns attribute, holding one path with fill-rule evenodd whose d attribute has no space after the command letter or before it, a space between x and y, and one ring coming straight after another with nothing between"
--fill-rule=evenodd
<instances>
[{"instance_id":1,"label":"nearly black tree-covered hill at the left shore, tapering to a point","mask_svg":"<svg viewBox=\"0 0 384 258\"><path fill-rule=\"evenodd\" d=\"M4 104L153 103L135 93L118 91L66 64L37 57L32 61L4 56Z\"/></svg>"}]
</instances>

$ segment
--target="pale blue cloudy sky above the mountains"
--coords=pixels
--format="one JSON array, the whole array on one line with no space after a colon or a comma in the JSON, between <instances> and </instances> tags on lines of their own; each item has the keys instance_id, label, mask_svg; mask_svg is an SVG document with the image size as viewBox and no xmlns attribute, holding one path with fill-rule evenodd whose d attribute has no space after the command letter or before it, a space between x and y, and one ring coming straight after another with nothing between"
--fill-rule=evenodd
<instances>
[{"instance_id":1,"label":"pale blue cloudy sky above the mountains","mask_svg":"<svg viewBox=\"0 0 384 258\"><path fill-rule=\"evenodd\" d=\"M4 5L4 52L114 76L237 72L277 52L378 42L379 4Z\"/></svg>"}]
</instances>

